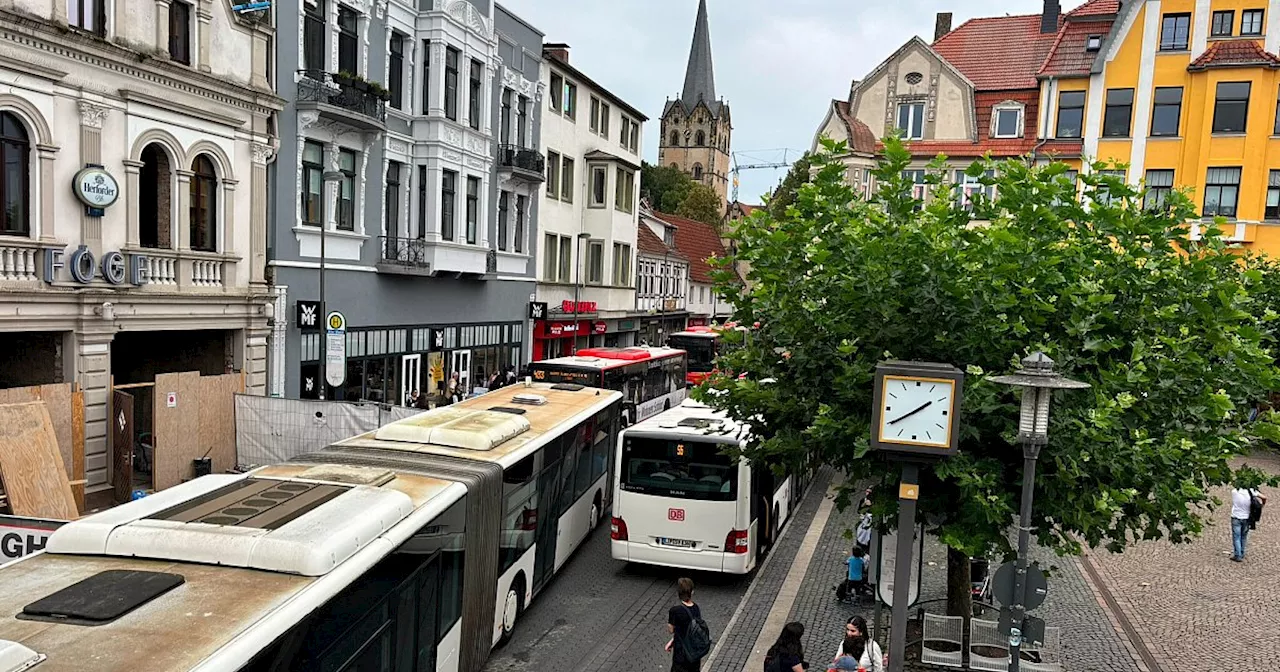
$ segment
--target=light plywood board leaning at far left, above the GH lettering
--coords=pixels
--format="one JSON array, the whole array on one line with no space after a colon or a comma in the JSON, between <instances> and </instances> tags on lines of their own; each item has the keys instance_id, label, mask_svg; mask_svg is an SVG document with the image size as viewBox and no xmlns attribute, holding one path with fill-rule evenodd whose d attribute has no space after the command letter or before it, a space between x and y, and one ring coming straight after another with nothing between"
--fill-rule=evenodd
<instances>
[{"instance_id":1,"label":"light plywood board leaning at far left, above the GH lettering","mask_svg":"<svg viewBox=\"0 0 1280 672\"><path fill-rule=\"evenodd\" d=\"M17 516L74 520L79 511L44 402L0 404L0 480Z\"/></svg>"}]
</instances>

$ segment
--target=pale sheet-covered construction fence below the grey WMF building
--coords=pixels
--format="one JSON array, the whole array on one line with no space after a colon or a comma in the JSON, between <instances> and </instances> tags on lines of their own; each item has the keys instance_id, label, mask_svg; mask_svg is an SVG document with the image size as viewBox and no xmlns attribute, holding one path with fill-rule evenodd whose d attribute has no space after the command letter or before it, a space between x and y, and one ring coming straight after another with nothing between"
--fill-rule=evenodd
<instances>
[{"instance_id":1,"label":"pale sheet-covered construction fence below the grey WMF building","mask_svg":"<svg viewBox=\"0 0 1280 672\"><path fill-rule=\"evenodd\" d=\"M374 402L236 396L236 453L241 467L276 465L417 413Z\"/></svg>"}]
</instances>

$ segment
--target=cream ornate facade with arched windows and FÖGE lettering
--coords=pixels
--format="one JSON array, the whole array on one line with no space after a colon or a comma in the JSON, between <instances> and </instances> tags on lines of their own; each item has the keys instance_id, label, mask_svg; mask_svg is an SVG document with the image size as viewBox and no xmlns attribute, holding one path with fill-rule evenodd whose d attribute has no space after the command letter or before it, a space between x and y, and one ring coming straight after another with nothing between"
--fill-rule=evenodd
<instances>
[{"instance_id":1,"label":"cream ornate facade with arched windows and F\u00d6GE lettering","mask_svg":"<svg viewBox=\"0 0 1280 672\"><path fill-rule=\"evenodd\" d=\"M273 32L214 0L3 0L0 33L20 166L0 188L0 387L79 384L93 493L113 379L265 388Z\"/></svg>"}]
</instances>

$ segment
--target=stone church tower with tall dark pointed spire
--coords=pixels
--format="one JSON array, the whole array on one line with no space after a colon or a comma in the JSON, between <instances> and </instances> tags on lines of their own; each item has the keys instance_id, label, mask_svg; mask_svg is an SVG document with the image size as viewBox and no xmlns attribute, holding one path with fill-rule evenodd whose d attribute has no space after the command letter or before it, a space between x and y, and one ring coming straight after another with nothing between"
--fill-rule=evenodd
<instances>
[{"instance_id":1,"label":"stone church tower with tall dark pointed spire","mask_svg":"<svg viewBox=\"0 0 1280 672\"><path fill-rule=\"evenodd\" d=\"M716 191L722 201L727 200L732 132L728 104L716 97L707 0L699 0L685 90L677 100L668 100L662 111L658 163L684 170Z\"/></svg>"}]
</instances>

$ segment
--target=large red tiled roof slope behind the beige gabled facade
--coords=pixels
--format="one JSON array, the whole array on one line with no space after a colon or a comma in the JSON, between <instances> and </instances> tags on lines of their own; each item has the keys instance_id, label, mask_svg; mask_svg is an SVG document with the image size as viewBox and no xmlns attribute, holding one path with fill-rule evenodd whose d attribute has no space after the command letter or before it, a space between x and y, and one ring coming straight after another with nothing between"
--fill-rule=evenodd
<instances>
[{"instance_id":1,"label":"large red tiled roof slope behind the beige gabled facade","mask_svg":"<svg viewBox=\"0 0 1280 672\"><path fill-rule=\"evenodd\" d=\"M933 42L933 50L978 91L1039 88L1036 73L1057 33L1041 32L1041 15L969 19Z\"/></svg>"}]
</instances>

